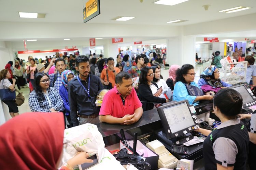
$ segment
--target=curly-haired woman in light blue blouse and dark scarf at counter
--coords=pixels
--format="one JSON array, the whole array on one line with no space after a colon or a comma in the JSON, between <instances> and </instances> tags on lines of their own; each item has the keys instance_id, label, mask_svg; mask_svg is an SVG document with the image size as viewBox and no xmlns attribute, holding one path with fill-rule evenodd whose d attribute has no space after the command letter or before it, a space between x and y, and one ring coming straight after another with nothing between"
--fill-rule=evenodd
<instances>
[{"instance_id":1,"label":"curly-haired woman in light blue blouse and dark scarf at counter","mask_svg":"<svg viewBox=\"0 0 256 170\"><path fill-rule=\"evenodd\" d=\"M198 105L197 101L200 100L212 100L212 91L204 94L203 91L194 82L195 69L190 64L184 64L176 71L176 80L173 90L173 100L182 101L188 100L189 104Z\"/></svg>"}]
</instances>

